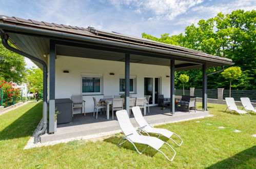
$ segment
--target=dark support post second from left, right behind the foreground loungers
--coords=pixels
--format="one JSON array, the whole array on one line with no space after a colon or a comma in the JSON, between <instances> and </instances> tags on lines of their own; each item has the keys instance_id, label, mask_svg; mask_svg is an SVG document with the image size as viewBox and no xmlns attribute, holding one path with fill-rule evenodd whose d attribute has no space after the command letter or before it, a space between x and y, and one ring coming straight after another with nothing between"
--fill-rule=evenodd
<instances>
[{"instance_id":1,"label":"dark support post second from left, right behind the foreground loungers","mask_svg":"<svg viewBox=\"0 0 256 169\"><path fill-rule=\"evenodd\" d=\"M129 99L130 99L130 54L125 54L125 109L129 113Z\"/></svg>"}]
</instances>

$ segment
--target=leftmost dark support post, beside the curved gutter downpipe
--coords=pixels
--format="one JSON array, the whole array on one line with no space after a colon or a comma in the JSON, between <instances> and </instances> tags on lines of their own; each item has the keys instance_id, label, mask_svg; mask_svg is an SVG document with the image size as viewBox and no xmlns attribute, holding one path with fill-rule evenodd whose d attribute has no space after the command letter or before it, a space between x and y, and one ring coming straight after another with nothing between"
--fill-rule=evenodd
<instances>
[{"instance_id":1,"label":"leftmost dark support post, beside the curved gutter downpipe","mask_svg":"<svg viewBox=\"0 0 256 169\"><path fill-rule=\"evenodd\" d=\"M49 133L54 132L55 115L55 44L50 41L50 77L49 77Z\"/></svg>"}]
</instances>

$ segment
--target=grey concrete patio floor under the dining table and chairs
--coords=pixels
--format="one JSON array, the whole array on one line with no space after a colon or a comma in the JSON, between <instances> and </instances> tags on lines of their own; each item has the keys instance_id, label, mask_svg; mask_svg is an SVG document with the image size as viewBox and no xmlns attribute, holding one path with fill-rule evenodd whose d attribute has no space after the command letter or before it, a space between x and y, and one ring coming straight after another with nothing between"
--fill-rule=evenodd
<instances>
[{"instance_id":1,"label":"grey concrete patio floor under the dining table and chairs","mask_svg":"<svg viewBox=\"0 0 256 169\"><path fill-rule=\"evenodd\" d=\"M175 114L171 116L169 108L161 110L161 107L154 106L150 107L150 113L147 112L144 118L147 122L155 120L151 124L159 124L202 118L208 115L208 111L196 110L196 112L190 111L190 113L185 111L175 111ZM134 127L139 126L132 114L130 115L130 120ZM58 124L57 132L54 134L42 135L41 143L117 130L120 130L120 126L116 119L115 113L114 120L112 120L112 113L110 114L109 120L106 119L106 115L101 115L100 113L98 113L97 119L93 117L93 113L87 113L86 116L83 114L75 114L71 123Z\"/></svg>"}]
</instances>

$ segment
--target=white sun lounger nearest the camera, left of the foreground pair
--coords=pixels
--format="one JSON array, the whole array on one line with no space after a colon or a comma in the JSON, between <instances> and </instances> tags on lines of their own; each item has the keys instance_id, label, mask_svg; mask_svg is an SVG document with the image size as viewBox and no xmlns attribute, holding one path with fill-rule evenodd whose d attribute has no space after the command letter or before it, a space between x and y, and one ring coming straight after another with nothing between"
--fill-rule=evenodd
<instances>
[{"instance_id":1,"label":"white sun lounger nearest the camera, left of the foreground pair","mask_svg":"<svg viewBox=\"0 0 256 169\"><path fill-rule=\"evenodd\" d=\"M119 143L117 143L117 146L122 145L126 141L129 141L129 142L132 143L132 145L135 147L136 151L139 154L142 154L147 149L148 146L151 146L153 149L162 153L167 160L172 161L174 159L174 157L176 155L176 152L168 143L166 143L166 142L164 142L164 141L162 141L162 140L160 140L159 138L156 138L156 137L143 136L141 133L137 132L134 129L133 125L130 122L130 119L128 117L128 114L127 114L126 110L117 111L116 112L116 117L117 117L117 120L119 122L119 125L120 125L122 131L125 134L125 136L122 137L122 139L119 141ZM121 141L123 139L126 139L126 141L121 143ZM134 145L134 143L146 144L148 146L142 152L139 152L139 150ZM161 152L159 150L163 146L164 143L167 144L171 148L171 150L174 152L174 155L171 159L169 159L163 152Z\"/></svg>"}]
</instances>

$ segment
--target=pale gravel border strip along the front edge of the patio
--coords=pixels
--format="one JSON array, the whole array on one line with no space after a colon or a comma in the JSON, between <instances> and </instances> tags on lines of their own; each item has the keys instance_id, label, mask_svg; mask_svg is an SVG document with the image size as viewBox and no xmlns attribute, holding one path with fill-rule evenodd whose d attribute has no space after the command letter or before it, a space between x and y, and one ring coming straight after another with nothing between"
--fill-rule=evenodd
<instances>
[{"instance_id":1,"label":"pale gravel border strip along the front edge of the patio","mask_svg":"<svg viewBox=\"0 0 256 169\"><path fill-rule=\"evenodd\" d=\"M201 118L212 117L212 116L214 116L214 115L206 115L206 116L188 118L188 119L185 119L185 120L176 120L176 121L155 123L155 124L152 124L152 126L162 125L162 124L167 124L167 123L181 122L181 121L189 121L189 120L201 119ZM139 128L139 127L137 127L137 128ZM122 130L115 130L115 131L110 131L110 132L97 133L97 134L93 134L93 135L79 136L79 137L73 137L73 138L55 140L55 141L48 141L48 142L36 143L36 144L34 144L34 137L30 137L30 139L27 142L27 145L24 147L24 150L32 149L32 148L35 148L35 147L41 147L41 146L55 145L55 144L59 144L59 143L67 143L69 141L74 141L74 140L86 140L86 141L102 140L104 138L107 138L109 136L112 136L116 133L121 133L121 132L122 132Z\"/></svg>"}]
</instances>

